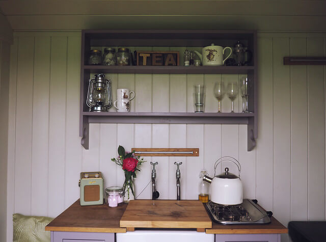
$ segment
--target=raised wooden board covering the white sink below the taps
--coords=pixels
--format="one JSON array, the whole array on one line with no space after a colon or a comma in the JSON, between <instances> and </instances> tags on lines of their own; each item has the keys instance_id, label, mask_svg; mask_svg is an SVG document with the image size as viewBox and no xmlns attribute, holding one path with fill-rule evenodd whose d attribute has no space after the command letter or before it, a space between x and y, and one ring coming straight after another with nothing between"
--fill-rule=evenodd
<instances>
[{"instance_id":1,"label":"raised wooden board covering the white sink below the taps","mask_svg":"<svg viewBox=\"0 0 326 242\"><path fill-rule=\"evenodd\" d=\"M120 227L196 228L204 232L212 222L199 200L131 200Z\"/></svg>"}]
</instances>

